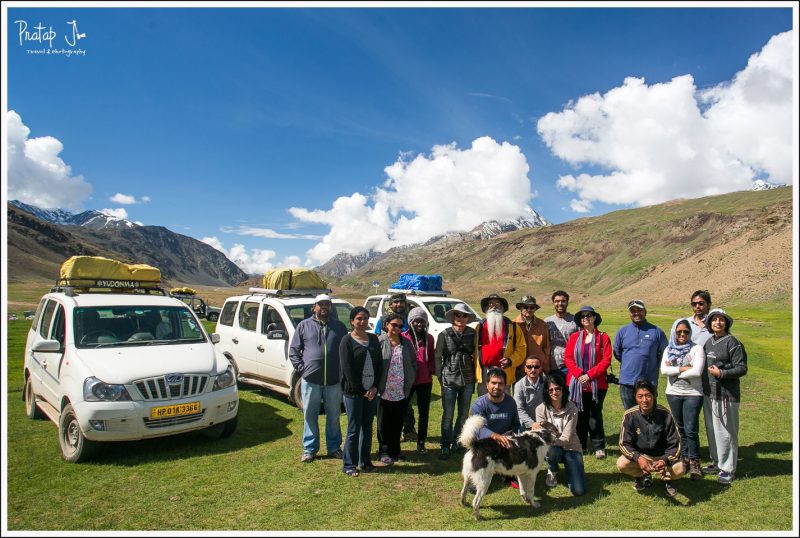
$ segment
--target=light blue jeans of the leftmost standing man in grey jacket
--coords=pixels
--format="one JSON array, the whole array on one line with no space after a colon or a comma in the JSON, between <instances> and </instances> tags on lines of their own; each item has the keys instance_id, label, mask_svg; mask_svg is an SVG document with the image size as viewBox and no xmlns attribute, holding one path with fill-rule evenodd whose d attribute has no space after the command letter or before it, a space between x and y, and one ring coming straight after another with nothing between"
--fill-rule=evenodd
<instances>
[{"instance_id":1,"label":"light blue jeans of the leftmost standing man in grey jacket","mask_svg":"<svg viewBox=\"0 0 800 538\"><path fill-rule=\"evenodd\" d=\"M300 381L303 394L303 452L319 452L319 405L325 403L325 443L328 454L333 454L342 445L342 426L339 413L342 408L342 386L316 385L305 379Z\"/></svg>"}]
</instances>

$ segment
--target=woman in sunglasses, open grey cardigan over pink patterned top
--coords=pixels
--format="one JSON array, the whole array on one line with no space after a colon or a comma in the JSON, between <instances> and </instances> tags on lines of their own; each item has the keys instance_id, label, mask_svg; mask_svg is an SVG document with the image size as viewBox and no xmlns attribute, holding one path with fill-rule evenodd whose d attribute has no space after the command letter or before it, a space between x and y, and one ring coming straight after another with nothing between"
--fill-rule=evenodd
<instances>
[{"instance_id":1,"label":"woman in sunglasses, open grey cardigan over pink patterned top","mask_svg":"<svg viewBox=\"0 0 800 538\"><path fill-rule=\"evenodd\" d=\"M403 316L391 313L384 321L387 332L378 337L383 357L378 383L378 444L381 463L392 465L401 459L400 435L411 387L417 377L417 357L411 342L401 336Z\"/></svg>"}]
</instances>

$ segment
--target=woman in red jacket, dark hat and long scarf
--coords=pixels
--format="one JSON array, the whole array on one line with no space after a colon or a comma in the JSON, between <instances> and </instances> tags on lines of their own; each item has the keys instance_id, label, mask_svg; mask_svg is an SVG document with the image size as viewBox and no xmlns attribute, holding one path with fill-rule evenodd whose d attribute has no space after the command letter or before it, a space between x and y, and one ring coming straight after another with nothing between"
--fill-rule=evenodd
<instances>
[{"instance_id":1,"label":"woman in red jacket, dark hat and long scarf","mask_svg":"<svg viewBox=\"0 0 800 538\"><path fill-rule=\"evenodd\" d=\"M597 459L606 457L603 400L608 391L606 371L611 366L611 340L597 327L603 321L591 306L575 314L578 332L572 333L564 350L569 399L578 408L578 440L586 447L590 437Z\"/></svg>"}]
</instances>

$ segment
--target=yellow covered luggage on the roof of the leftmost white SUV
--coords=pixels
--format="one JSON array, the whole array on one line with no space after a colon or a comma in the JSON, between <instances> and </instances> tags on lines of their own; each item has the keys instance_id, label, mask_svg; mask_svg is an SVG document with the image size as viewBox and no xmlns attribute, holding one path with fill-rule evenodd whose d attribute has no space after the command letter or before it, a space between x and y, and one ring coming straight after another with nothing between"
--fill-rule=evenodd
<instances>
[{"instance_id":1,"label":"yellow covered luggage on the roof of the leftmost white SUV","mask_svg":"<svg viewBox=\"0 0 800 538\"><path fill-rule=\"evenodd\" d=\"M144 263L128 264L101 256L73 256L61 264L60 283L65 286L154 287L161 283L161 271ZM137 286L109 285L137 282Z\"/></svg>"}]
</instances>

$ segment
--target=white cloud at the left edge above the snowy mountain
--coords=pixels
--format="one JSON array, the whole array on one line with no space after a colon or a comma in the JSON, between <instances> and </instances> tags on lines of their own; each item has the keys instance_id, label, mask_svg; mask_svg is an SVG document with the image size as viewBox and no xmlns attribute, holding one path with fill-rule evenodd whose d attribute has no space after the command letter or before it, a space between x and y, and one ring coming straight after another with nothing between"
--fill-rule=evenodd
<instances>
[{"instance_id":1,"label":"white cloud at the left edge above the snowy mountain","mask_svg":"<svg viewBox=\"0 0 800 538\"><path fill-rule=\"evenodd\" d=\"M43 208L80 210L92 193L83 176L58 156L64 145L52 136L28 138L31 130L22 118L9 110L8 197Z\"/></svg>"}]
</instances>

